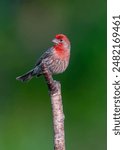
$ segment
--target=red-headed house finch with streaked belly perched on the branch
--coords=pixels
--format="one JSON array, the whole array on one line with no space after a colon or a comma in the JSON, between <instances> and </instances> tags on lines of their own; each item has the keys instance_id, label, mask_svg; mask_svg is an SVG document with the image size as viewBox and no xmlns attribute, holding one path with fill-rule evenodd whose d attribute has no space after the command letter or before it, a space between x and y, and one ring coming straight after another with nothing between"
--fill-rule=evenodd
<instances>
[{"instance_id":1,"label":"red-headed house finch with streaked belly perched on the branch","mask_svg":"<svg viewBox=\"0 0 124 150\"><path fill-rule=\"evenodd\" d=\"M62 73L66 70L70 58L70 41L64 34L57 34L52 42L54 45L41 55L35 67L26 74L17 77L17 80L27 81L34 76L42 75L43 63L51 74Z\"/></svg>"}]
</instances>

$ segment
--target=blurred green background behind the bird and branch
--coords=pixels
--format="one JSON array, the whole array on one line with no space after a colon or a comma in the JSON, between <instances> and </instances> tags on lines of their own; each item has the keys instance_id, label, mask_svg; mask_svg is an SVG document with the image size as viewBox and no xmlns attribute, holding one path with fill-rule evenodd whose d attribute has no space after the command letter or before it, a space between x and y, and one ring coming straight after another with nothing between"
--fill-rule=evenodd
<instances>
[{"instance_id":1,"label":"blurred green background behind the bird and branch","mask_svg":"<svg viewBox=\"0 0 124 150\"><path fill-rule=\"evenodd\" d=\"M106 150L106 1L0 0L0 150L53 150L44 78L22 84L55 34L71 41L62 84L67 150Z\"/></svg>"}]
</instances>

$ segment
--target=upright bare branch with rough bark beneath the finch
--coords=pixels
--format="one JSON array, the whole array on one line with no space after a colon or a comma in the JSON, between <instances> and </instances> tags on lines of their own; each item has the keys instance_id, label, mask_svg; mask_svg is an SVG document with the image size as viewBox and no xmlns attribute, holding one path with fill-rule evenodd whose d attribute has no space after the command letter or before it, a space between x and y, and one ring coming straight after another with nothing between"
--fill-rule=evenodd
<instances>
[{"instance_id":1,"label":"upright bare branch with rough bark beneath the finch","mask_svg":"<svg viewBox=\"0 0 124 150\"><path fill-rule=\"evenodd\" d=\"M45 63L42 63L42 71L51 97L54 127L54 150L65 150L64 113L61 97L61 84L58 81L53 80L52 75Z\"/></svg>"}]
</instances>

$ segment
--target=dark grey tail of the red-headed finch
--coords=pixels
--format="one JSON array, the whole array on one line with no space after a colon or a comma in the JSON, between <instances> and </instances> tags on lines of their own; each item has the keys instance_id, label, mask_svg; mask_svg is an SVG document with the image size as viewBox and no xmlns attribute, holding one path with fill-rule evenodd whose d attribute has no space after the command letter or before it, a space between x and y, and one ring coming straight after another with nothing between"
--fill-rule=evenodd
<instances>
[{"instance_id":1,"label":"dark grey tail of the red-headed finch","mask_svg":"<svg viewBox=\"0 0 124 150\"><path fill-rule=\"evenodd\" d=\"M34 76L34 69L28 71L26 74L19 76L16 80L20 80L22 82L30 80Z\"/></svg>"}]
</instances>

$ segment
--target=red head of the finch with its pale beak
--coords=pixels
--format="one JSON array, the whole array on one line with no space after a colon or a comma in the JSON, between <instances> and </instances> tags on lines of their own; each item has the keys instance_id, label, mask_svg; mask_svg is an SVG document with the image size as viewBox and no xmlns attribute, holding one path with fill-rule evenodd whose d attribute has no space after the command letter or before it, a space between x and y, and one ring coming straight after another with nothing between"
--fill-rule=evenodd
<instances>
[{"instance_id":1,"label":"red head of the finch with its pale beak","mask_svg":"<svg viewBox=\"0 0 124 150\"><path fill-rule=\"evenodd\" d=\"M57 34L52 42L55 44L55 46L70 49L70 41L64 34Z\"/></svg>"}]
</instances>

